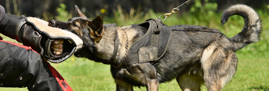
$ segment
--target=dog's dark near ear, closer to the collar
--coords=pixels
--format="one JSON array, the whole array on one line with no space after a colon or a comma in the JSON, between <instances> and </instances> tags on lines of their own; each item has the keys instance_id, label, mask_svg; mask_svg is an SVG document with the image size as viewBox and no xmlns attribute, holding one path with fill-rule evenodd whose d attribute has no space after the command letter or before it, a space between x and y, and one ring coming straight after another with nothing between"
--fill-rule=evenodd
<instances>
[{"instance_id":1,"label":"dog's dark near ear, closer to the collar","mask_svg":"<svg viewBox=\"0 0 269 91\"><path fill-rule=\"evenodd\" d=\"M90 28L90 35L96 41L99 41L103 35L103 18L101 15L95 17L89 24Z\"/></svg>"}]
</instances>

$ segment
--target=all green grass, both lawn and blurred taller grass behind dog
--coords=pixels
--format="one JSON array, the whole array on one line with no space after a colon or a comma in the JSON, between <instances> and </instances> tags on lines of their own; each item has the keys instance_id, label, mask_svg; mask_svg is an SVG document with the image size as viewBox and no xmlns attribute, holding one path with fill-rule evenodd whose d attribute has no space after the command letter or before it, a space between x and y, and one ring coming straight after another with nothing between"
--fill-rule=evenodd
<instances>
[{"instance_id":1,"label":"all green grass, both lawn and blurred taller grass behind dog","mask_svg":"<svg viewBox=\"0 0 269 91\"><path fill-rule=\"evenodd\" d=\"M263 20L263 31L260 41L247 45L236 52L238 56L238 69L233 79L223 91L269 91L269 17L268 9L257 10ZM152 10L141 13L134 10L134 13L124 13L124 10L115 10L114 17L104 17L104 23L117 23L117 25L131 25L142 23L149 18L157 18L163 13L154 13ZM218 29L227 37L233 37L241 31L244 26L244 19L238 15L230 17L227 24L220 26L220 12L192 12L180 15L172 15L164 22L167 25L201 25ZM93 18L90 18L93 19ZM3 36L3 35L1 35ZM15 41L4 37L4 40ZM51 65L57 69L68 84L75 91L115 91L116 84L110 74L110 66L97 63L84 58L72 56L66 61ZM25 91L26 88L0 88L0 91ZM134 87L135 91L146 91L145 87ZM201 87L206 91L206 87ZM161 83L159 91L181 91L175 80L168 83Z\"/></svg>"}]
</instances>

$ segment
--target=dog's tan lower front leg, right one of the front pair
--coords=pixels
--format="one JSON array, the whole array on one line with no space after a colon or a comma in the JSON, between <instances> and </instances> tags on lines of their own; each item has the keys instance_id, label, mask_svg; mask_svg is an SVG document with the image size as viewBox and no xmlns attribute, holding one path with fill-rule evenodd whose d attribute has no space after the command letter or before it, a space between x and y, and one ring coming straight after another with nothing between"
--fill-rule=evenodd
<instances>
[{"instance_id":1,"label":"dog's tan lower front leg, right one of the front pair","mask_svg":"<svg viewBox=\"0 0 269 91\"><path fill-rule=\"evenodd\" d=\"M146 87L147 91L158 91L159 81L157 79L151 79Z\"/></svg>"}]
</instances>

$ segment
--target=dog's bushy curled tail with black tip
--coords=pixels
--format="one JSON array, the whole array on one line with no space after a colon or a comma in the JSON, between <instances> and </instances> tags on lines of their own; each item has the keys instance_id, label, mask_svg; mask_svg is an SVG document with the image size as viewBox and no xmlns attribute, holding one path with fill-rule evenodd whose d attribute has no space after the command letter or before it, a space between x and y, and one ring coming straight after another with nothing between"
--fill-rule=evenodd
<instances>
[{"instance_id":1,"label":"dog's bushy curled tail with black tip","mask_svg":"<svg viewBox=\"0 0 269 91\"><path fill-rule=\"evenodd\" d=\"M258 42L262 24L257 12L247 5L233 5L224 10L221 17L221 24L226 23L232 15L240 15L245 20L243 30L230 38L235 46L235 50L239 50L249 43Z\"/></svg>"}]
</instances>

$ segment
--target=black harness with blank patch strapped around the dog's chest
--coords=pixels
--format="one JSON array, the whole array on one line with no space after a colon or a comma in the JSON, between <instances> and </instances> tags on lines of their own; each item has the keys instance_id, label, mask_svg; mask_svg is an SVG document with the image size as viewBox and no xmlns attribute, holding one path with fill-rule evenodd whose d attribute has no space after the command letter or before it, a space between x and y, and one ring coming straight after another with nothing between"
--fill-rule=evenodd
<instances>
[{"instance_id":1,"label":"black harness with blank patch strapped around the dog's chest","mask_svg":"<svg viewBox=\"0 0 269 91\"><path fill-rule=\"evenodd\" d=\"M148 28L148 30L145 35L130 46L123 65L153 61L156 62L164 56L168 47L171 37L171 29L167 25L161 23L157 19L148 19L146 22L138 25ZM117 45L119 44L119 41L117 37L118 36L116 34L116 39L114 40L114 52L111 58L112 60L115 59L115 49L118 49ZM157 62L154 63L154 65L156 64Z\"/></svg>"}]
</instances>

